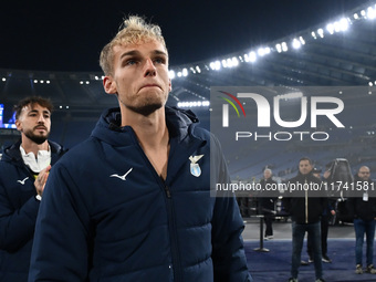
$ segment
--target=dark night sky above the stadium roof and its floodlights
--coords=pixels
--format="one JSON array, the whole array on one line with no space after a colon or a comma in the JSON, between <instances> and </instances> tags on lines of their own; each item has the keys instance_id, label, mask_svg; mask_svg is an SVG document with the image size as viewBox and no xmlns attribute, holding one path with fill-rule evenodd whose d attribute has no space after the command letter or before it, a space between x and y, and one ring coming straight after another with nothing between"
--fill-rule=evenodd
<instances>
[{"instance_id":1,"label":"dark night sky above the stadium roof and its floodlights","mask_svg":"<svg viewBox=\"0 0 376 282\"><path fill-rule=\"evenodd\" d=\"M364 0L2 1L0 69L96 72L124 17L161 27L170 65L258 46L341 17Z\"/></svg>"}]
</instances>

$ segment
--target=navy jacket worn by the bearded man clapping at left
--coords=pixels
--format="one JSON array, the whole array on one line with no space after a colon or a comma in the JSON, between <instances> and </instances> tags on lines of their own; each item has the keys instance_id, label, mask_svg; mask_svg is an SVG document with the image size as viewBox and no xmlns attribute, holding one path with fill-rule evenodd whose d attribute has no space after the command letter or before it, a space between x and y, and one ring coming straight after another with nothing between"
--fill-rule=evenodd
<instances>
[{"instance_id":1,"label":"navy jacket worn by the bearded man clapping at left","mask_svg":"<svg viewBox=\"0 0 376 282\"><path fill-rule=\"evenodd\" d=\"M51 164L64 153L49 142ZM21 142L4 149L0 161L0 281L28 281L31 247L40 201L34 177L24 165Z\"/></svg>"}]
</instances>

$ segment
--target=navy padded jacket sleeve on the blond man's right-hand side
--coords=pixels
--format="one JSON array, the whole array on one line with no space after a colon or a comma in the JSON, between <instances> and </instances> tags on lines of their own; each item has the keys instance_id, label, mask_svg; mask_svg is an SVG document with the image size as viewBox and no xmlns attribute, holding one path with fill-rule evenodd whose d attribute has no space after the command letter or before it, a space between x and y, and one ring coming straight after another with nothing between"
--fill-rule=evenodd
<instances>
[{"instance_id":1,"label":"navy padded jacket sleeve on the blond man's right-hand side","mask_svg":"<svg viewBox=\"0 0 376 282\"><path fill-rule=\"evenodd\" d=\"M212 160L217 170L212 177L218 179L217 182L230 182L222 154ZM215 282L252 282L241 237L243 229L234 195L229 192L217 196L212 218Z\"/></svg>"}]
</instances>

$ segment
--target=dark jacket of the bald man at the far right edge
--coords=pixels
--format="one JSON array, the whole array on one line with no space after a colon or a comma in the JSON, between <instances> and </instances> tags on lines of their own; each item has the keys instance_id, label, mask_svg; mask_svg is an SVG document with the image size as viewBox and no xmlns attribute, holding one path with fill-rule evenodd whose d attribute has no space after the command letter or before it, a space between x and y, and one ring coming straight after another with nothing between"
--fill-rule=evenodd
<instances>
[{"instance_id":1,"label":"dark jacket of the bald man at the far right edge","mask_svg":"<svg viewBox=\"0 0 376 282\"><path fill-rule=\"evenodd\" d=\"M354 187L359 187L359 189L362 187L362 191L359 197L347 198L347 209L351 218L370 221L376 218L376 198L370 197L370 195L368 195L368 200L367 201L364 200L363 194L366 192L366 190L363 188L368 187L368 190L370 191L372 187L370 185L373 181L372 180L366 181L368 186L363 185L363 182L364 181L357 175L354 176Z\"/></svg>"}]
</instances>

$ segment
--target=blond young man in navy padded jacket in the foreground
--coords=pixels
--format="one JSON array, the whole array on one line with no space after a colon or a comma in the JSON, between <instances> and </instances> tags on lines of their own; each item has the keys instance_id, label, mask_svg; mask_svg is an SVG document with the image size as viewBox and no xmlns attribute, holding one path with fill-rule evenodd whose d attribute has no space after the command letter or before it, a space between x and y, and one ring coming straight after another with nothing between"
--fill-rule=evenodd
<instances>
[{"instance_id":1,"label":"blond young man in navy padded jacket in the foreground","mask_svg":"<svg viewBox=\"0 0 376 282\"><path fill-rule=\"evenodd\" d=\"M236 200L210 197L210 170L229 180L218 144L191 112L166 106L159 27L129 17L101 66L119 108L52 169L29 281L252 281Z\"/></svg>"}]
</instances>

